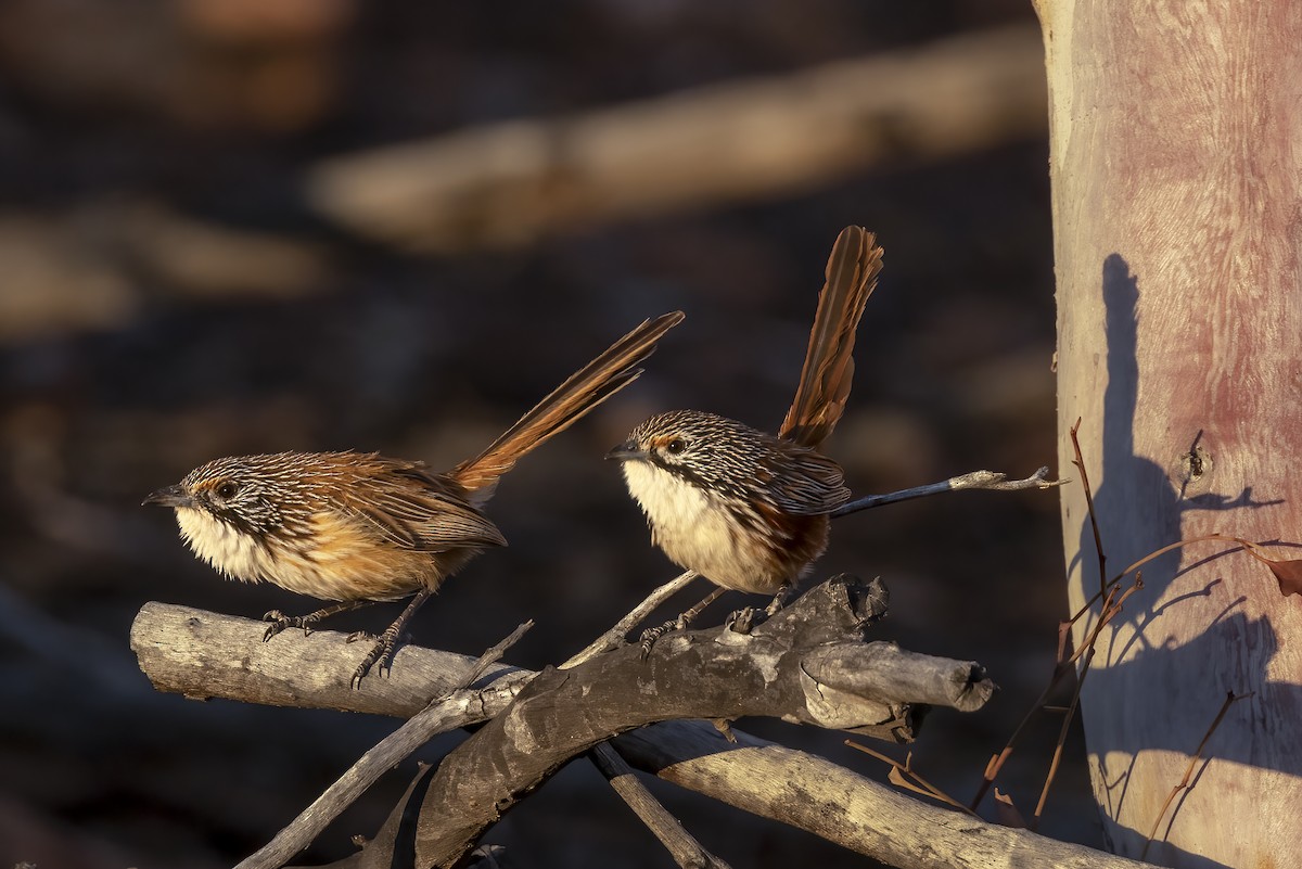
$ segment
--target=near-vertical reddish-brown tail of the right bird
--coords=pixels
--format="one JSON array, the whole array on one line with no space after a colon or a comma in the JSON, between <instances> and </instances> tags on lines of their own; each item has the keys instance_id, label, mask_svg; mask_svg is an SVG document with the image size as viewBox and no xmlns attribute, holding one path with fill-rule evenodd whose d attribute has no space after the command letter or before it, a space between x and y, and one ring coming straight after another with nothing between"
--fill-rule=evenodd
<instances>
[{"instance_id":1,"label":"near-vertical reddish-brown tail of the right bird","mask_svg":"<svg viewBox=\"0 0 1302 869\"><path fill-rule=\"evenodd\" d=\"M836 428L854 380L854 332L880 271L876 235L862 226L842 229L827 260L801 382L779 437L818 448Z\"/></svg>"}]
</instances>

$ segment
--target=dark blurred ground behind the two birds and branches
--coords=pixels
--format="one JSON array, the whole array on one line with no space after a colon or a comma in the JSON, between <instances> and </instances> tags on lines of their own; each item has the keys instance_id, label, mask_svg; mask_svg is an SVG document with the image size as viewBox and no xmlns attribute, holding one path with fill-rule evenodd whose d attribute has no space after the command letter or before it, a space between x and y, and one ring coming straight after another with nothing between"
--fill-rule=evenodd
<instances>
[{"instance_id":1,"label":"dark blurred ground behind the two birds and branches","mask_svg":"<svg viewBox=\"0 0 1302 869\"><path fill-rule=\"evenodd\" d=\"M392 196L349 215L322 193L322 167L362 161L383 174L388 146L427 143L431 163L398 161L389 182L397 200L406 183L436 196L437 172L462 178L456 163L439 168L440 137L707 86L725 88L727 103L728 87L755 77L905 62L958 36L979 59L990 33L1027 47L1017 75L1031 99L987 87L979 116L991 129L971 144L963 129L917 131L904 105L892 109L896 147L842 148L781 189L756 173L754 189L728 195L634 195L607 208L599 187L577 216L551 213L556 200L543 195L523 229L512 221L525 207L491 178L467 202L453 190L439 203L466 215L452 232L421 203L389 221ZM559 662L676 572L651 549L605 449L672 407L775 428L828 250L854 222L885 247L850 410L827 448L854 489L975 468L1022 476L1052 462L1036 44L1029 4L1004 0L0 5L0 865L229 865L396 726L151 689L128 647L143 602L254 618L312 608L223 582L190 557L169 514L138 506L210 458L355 448L447 468L633 324L682 308L686 323L633 389L504 480L490 514L510 548L474 562L414 622L415 643L478 654L534 618L510 660ZM923 111L952 99L926 68L909 74ZM983 69L973 60L958 72L982 81ZM874 87L891 86L862 85ZM825 135L783 127L781 116L777 126L794 146ZM461 157L473 165L480 150ZM674 160L663 169L681 169ZM495 208L483 208L483 190ZM840 520L818 568L880 575L892 592L881 636L978 660L1001 686L978 714L934 713L914 747L918 769L960 799L1048 679L1065 614L1060 539L1052 493L961 493ZM754 601L712 613L742 602ZM376 610L333 627L396 614ZM1023 812L1059 725L1038 719L1001 779ZM884 777L844 735L740 727ZM349 835L372 834L413 771L388 775L301 861L349 853ZM654 788L733 865L863 865ZM1074 731L1043 830L1098 842ZM585 764L486 840L508 844L518 865L672 865Z\"/></svg>"}]
</instances>

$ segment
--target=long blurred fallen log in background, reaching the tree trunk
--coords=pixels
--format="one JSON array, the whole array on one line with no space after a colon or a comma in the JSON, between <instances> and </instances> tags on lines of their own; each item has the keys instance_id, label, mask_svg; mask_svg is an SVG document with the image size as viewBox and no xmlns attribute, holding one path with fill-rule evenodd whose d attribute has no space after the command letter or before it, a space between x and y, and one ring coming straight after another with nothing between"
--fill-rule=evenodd
<instances>
[{"instance_id":1,"label":"long blurred fallen log in background, reaching the tree trunk","mask_svg":"<svg viewBox=\"0 0 1302 869\"><path fill-rule=\"evenodd\" d=\"M508 247L1042 137L1046 107L1039 33L993 29L335 157L307 176L306 194L336 222L404 248Z\"/></svg>"}]
</instances>

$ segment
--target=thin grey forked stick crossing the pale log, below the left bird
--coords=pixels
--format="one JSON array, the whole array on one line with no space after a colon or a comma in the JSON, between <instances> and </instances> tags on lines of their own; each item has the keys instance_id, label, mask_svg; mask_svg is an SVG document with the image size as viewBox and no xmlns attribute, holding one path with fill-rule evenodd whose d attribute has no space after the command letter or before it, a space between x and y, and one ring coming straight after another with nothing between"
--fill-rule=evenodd
<instances>
[{"instance_id":1,"label":"thin grey forked stick crossing the pale log, below the left bird","mask_svg":"<svg viewBox=\"0 0 1302 869\"><path fill-rule=\"evenodd\" d=\"M375 748L358 758L339 781L312 801L294 818L289 826L277 833L271 842L242 860L236 869L279 869L290 857L306 848L340 813L366 792L385 771L430 742L434 736L456 727L460 713L448 714L449 701L466 691L490 666L497 662L506 649L513 647L529 628L533 619L517 627L510 636L492 647L475 661L470 671L456 688L435 699L406 723L385 736Z\"/></svg>"}]
</instances>

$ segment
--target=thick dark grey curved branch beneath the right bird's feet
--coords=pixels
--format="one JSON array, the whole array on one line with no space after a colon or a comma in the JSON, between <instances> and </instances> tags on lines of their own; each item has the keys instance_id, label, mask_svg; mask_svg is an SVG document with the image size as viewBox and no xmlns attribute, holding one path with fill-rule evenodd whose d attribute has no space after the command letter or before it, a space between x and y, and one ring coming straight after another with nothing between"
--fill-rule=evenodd
<instances>
[{"instance_id":1,"label":"thick dark grey curved branch beneath the right bird's feet","mask_svg":"<svg viewBox=\"0 0 1302 869\"><path fill-rule=\"evenodd\" d=\"M450 865L573 756L646 723L767 715L911 739L914 699L887 696L892 675L865 679L872 695L819 684L815 675L832 649L862 648L863 628L884 614L884 598L880 588L837 578L746 635L727 627L671 634L646 660L629 647L569 670L543 670L439 765L422 800L417 865ZM810 657L815 667L806 666ZM907 662L892 661L901 665Z\"/></svg>"}]
</instances>

